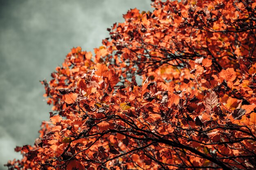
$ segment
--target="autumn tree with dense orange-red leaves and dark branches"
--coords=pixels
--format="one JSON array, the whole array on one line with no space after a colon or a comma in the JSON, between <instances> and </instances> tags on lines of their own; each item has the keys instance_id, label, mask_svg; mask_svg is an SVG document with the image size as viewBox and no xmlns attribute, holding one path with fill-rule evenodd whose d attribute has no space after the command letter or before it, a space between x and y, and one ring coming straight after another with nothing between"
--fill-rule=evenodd
<instances>
[{"instance_id":1,"label":"autumn tree with dense orange-red leaves and dark branches","mask_svg":"<svg viewBox=\"0 0 256 170\"><path fill-rule=\"evenodd\" d=\"M256 168L256 2L152 5L42 82L54 113L10 170Z\"/></svg>"}]
</instances>

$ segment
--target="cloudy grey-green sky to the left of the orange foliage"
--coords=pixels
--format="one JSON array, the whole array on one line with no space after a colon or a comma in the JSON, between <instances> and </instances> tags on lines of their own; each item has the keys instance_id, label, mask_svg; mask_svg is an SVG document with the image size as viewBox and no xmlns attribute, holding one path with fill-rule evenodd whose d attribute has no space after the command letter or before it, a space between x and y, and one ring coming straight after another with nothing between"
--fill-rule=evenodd
<instances>
[{"instance_id":1,"label":"cloudy grey-green sky to the left of the orange foliage","mask_svg":"<svg viewBox=\"0 0 256 170\"><path fill-rule=\"evenodd\" d=\"M20 158L16 146L34 144L51 106L39 80L61 65L74 46L92 51L135 8L150 0L0 0L0 170Z\"/></svg>"}]
</instances>

